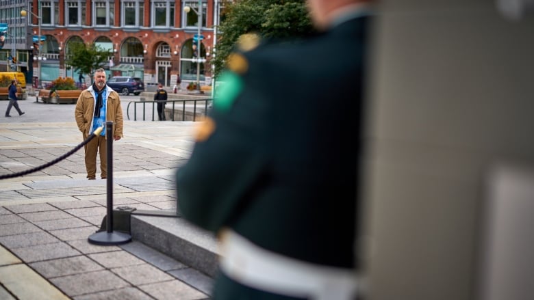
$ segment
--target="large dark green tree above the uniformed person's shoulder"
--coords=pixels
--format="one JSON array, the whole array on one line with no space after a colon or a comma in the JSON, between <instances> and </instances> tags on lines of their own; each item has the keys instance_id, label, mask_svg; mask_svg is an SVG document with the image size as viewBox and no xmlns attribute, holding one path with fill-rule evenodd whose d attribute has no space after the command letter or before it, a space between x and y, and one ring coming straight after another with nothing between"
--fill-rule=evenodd
<instances>
[{"instance_id":1,"label":"large dark green tree above the uniformed person's shoulder","mask_svg":"<svg viewBox=\"0 0 534 300\"><path fill-rule=\"evenodd\" d=\"M223 18L212 60L215 77L225 68L228 55L243 33L256 33L264 39L298 40L314 32L305 0L225 2Z\"/></svg>"}]
</instances>

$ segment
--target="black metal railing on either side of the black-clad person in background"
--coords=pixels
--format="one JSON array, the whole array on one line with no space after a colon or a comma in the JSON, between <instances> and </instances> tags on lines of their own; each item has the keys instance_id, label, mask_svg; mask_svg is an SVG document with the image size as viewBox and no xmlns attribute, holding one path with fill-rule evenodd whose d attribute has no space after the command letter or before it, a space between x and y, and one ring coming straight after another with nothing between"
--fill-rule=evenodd
<instances>
[{"instance_id":1,"label":"black metal railing on either side of the black-clad person in background","mask_svg":"<svg viewBox=\"0 0 534 300\"><path fill-rule=\"evenodd\" d=\"M133 103L133 120L137 121L137 106L142 105L142 120L146 121L147 117L147 105L152 106L152 121L155 120L155 115L157 114L157 102L155 100L141 100L139 101L132 101L128 103L128 106L126 108L126 115L128 120L130 120L130 105ZM213 99L212 98L204 98L204 99L177 99L177 100L166 100L167 105L165 107L165 110L170 109L170 120L171 121L186 121L186 118L192 120L193 122L196 121L197 116L206 116L209 112L209 109L212 107ZM181 105L177 105L177 103L181 103ZM188 105L186 105L188 103ZM192 103L189 104L189 103ZM168 105L171 104L172 107L168 108ZM175 115L180 114L181 120L175 120Z\"/></svg>"}]
</instances>

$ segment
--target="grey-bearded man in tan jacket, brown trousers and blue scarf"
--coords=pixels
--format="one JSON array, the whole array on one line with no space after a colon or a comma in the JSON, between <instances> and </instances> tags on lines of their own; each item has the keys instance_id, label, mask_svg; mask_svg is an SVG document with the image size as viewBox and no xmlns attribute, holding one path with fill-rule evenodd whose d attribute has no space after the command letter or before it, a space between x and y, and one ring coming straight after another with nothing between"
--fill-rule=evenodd
<instances>
[{"instance_id":1,"label":"grey-bearded man in tan jacket, brown trousers and blue scarf","mask_svg":"<svg viewBox=\"0 0 534 300\"><path fill-rule=\"evenodd\" d=\"M94 83L79 95L75 108L75 120L84 140L105 122L113 122L113 139L123 137L123 109L118 93L105 84L105 70L94 72ZM100 135L84 146L87 178L95 179L97 173L97 152L100 152L101 178L107 178L105 128Z\"/></svg>"}]
</instances>

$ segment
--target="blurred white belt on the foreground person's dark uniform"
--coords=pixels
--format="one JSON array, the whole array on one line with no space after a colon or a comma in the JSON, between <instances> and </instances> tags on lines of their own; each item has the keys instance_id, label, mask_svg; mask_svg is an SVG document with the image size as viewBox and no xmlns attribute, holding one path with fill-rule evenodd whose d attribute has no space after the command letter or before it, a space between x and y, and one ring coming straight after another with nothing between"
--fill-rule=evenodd
<instances>
[{"instance_id":1,"label":"blurred white belt on the foreground person's dark uniform","mask_svg":"<svg viewBox=\"0 0 534 300\"><path fill-rule=\"evenodd\" d=\"M231 230L221 234L221 242L220 269L240 284L290 297L315 300L355 298L357 276L354 270L281 256L258 247Z\"/></svg>"}]
</instances>

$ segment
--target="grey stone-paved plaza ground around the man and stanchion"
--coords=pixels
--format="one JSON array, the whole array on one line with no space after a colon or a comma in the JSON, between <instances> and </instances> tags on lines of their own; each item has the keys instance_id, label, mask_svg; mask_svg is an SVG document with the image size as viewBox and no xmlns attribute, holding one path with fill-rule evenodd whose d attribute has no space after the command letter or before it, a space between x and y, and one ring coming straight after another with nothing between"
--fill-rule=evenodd
<instances>
[{"instance_id":1,"label":"grey stone-paved plaza ground around the man and stanchion","mask_svg":"<svg viewBox=\"0 0 534 300\"><path fill-rule=\"evenodd\" d=\"M175 212L174 174L198 123L127 120L129 101L138 99L121 97L125 137L113 144L113 206ZM36 169L82 142L75 105L32 97L19 105L25 115L0 117L0 176ZM86 179L83 149L1 179L0 299L208 299L211 277L150 245L88 243L106 215L106 193L107 180Z\"/></svg>"}]
</instances>

